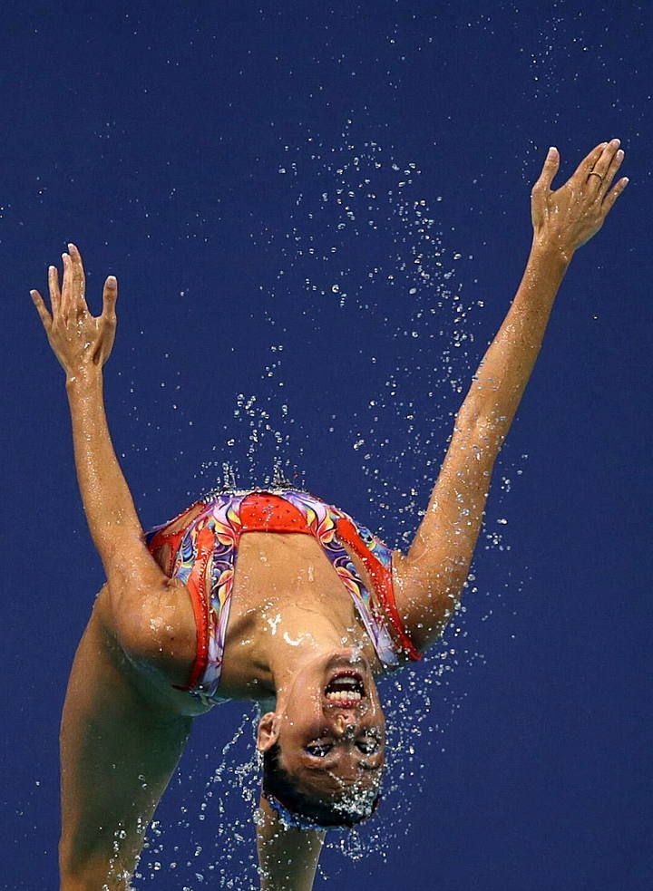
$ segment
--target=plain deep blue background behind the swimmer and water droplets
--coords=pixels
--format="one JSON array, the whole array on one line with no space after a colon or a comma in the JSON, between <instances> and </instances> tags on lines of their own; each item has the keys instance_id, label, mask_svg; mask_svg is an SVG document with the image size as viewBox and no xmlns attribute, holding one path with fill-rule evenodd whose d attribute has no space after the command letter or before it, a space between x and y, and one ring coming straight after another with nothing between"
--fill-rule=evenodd
<instances>
[{"instance_id":1,"label":"plain deep blue background behind the swimmer and water droplets","mask_svg":"<svg viewBox=\"0 0 653 891\"><path fill-rule=\"evenodd\" d=\"M102 585L29 296L48 264L81 248L95 313L118 276L107 412L146 528L276 462L404 547L519 283L547 147L559 185L613 136L631 182L562 286L465 611L387 685L404 754L362 835L372 853L324 863L327 886L376 891L653 886L652 18L570 2L4 9L5 888L56 885L59 713ZM233 765L252 781L251 716L222 754L241 712L196 723L137 887L249 882Z\"/></svg>"}]
</instances>

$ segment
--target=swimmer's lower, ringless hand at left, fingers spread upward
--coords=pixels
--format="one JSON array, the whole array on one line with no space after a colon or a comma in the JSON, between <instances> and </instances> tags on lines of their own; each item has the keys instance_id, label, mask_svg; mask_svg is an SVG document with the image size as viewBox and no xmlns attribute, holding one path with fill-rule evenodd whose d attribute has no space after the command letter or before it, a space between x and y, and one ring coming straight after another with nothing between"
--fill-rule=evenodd
<instances>
[{"instance_id":1,"label":"swimmer's lower, ringless hand at left, fingers spread upward","mask_svg":"<svg viewBox=\"0 0 653 891\"><path fill-rule=\"evenodd\" d=\"M30 291L41 316L48 342L66 373L72 380L93 368L102 368L112 351L115 339L115 304L118 284L108 276L102 292L102 315L94 316L86 305L86 282L82 255L73 244L70 254L63 254L63 288L59 289L56 266L48 270L48 286L52 315L38 291Z\"/></svg>"}]
</instances>

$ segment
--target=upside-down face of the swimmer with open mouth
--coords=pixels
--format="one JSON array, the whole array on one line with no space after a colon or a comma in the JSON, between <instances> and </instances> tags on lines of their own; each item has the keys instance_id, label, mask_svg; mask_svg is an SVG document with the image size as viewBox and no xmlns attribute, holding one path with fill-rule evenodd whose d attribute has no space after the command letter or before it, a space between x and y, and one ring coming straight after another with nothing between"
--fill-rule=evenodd
<instances>
[{"instance_id":1,"label":"upside-down face of the swimmer with open mouth","mask_svg":"<svg viewBox=\"0 0 653 891\"><path fill-rule=\"evenodd\" d=\"M307 793L328 799L378 787L385 716L370 665L356 650L308 663L276 717L281 766Z\"/></svg>"}]
</instances>

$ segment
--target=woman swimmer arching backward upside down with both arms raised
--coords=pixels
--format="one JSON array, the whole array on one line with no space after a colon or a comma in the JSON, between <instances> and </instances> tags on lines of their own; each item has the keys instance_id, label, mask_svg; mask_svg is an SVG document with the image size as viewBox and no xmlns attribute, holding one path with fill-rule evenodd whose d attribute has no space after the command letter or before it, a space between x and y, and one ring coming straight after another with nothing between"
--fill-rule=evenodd
<instances>
[{"instance_id":1,"label":"woman swimmer arching backward upside down with both arms raised","mask_svg":"<svg viewBox=\"0 0 653 891\"><path fill-rule=\"evenodd\" d=\"M62 891L128 889L148 824L195 718L225 699L260 706L255 815L265 891L309 891L329 828L370 818L385 763L375 679L433 646L458 603L492 468L577 248L628 179L602 142L552 189L551 149L531 193L531 254L458 412L406 553L297 489L213 493L145 534L112 447L102 366L117 283L102 315L69 245L51 310L32 291L63 366L83 507L106 583L73 662L61 728Z\"/></svg>"}]
</instances>

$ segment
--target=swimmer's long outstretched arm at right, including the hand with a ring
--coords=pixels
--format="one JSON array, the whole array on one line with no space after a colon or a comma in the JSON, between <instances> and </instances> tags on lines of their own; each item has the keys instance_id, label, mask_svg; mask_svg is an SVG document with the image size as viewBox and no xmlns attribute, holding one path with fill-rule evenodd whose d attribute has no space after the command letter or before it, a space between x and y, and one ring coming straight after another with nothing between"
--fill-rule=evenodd
<instances>
[{"instance_id":1,"label":"swimmer's long outstretched arm at right, including the hand with a ring","mask_svg":"<svg viewBox=\"0 0 653 891\"><path fill-rule=\"evenodd\" d=\"M578 247L607 217L628 179L610 190L623 160L619 140L602 142L555 191L550 149L532 189L531 254L510 311L463 406L424 519L407 555L395 555L397 605L419 647L433 644L458 601L481 528L492 469L540 353L560 282Z\"/></svg>"}]
</instances>

